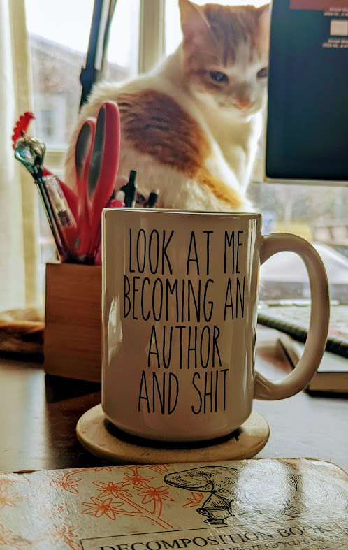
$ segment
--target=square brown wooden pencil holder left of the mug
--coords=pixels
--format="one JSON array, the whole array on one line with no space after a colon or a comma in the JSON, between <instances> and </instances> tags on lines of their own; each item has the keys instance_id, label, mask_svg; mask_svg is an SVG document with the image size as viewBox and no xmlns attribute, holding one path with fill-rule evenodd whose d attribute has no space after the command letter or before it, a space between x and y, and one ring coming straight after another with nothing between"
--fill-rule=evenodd
<instances>
[{"instance_id":1,"label":"square brown wooden pencil holder left of the mug","mask_svg":"<svg viewBox=\"0 0 348 550\"><path fill-rule=\"evenodd\" d=\"M46 265L45 372L101 382L101 266Z\"/></svg>"}]
</instances>

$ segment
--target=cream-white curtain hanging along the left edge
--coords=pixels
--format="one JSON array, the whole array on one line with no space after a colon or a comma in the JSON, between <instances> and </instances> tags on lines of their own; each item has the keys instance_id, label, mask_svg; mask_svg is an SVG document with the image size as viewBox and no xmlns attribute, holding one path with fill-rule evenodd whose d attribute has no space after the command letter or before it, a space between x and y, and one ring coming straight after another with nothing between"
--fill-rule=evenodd
<instances>
[{"instance_id":1,"label":"cream-white curtain hanging along the left edge","mask_svg":"<svg viewBox=\"0 0 348 550\"><path fill-rule=\"evenodd\" d=\"M0 311L41 305L38 192L15 160L15 122L32 110L24 0L0 0Z\"/></svg>"}]
</instances>

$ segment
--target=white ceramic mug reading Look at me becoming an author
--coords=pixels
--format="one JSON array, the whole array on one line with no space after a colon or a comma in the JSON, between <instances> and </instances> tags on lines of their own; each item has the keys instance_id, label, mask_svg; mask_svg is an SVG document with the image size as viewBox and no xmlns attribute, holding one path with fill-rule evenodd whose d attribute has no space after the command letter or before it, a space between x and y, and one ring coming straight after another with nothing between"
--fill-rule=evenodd
<instances>
[{"instance_id":1,"label":"white ceramic mug reading Look at me becoming an author","mask_svg":"<svg viewBox=\"0 0 348 550\"><path fill-rule=\"evenodd\" d=\"M253 399L305 388L328 333L325 269L307 241L261 236L261 215L103 211L102 407L121 430L167 441L232 433ZM310 277L303 357L270 381L254 370L259 267L296 252Z\"/></svg>"}]
</instances>

